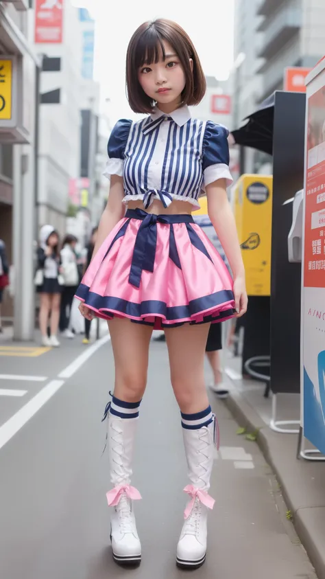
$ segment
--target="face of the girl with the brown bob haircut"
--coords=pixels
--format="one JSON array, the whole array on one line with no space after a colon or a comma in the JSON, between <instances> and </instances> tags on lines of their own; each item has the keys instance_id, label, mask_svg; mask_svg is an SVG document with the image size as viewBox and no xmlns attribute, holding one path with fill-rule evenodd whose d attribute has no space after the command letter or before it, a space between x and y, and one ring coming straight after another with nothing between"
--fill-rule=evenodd
<instances>
[{"instance_id":1,"label":"face of the girl with the brown bob haircut","mask_svg":"<svg viewBox=\"0 0 325 579\"><path fill-rule=\"evenodd\" d=\"M163 45L165 60L162 55L158 63L145 63L138 71L141 87L152 100L158 102L161 110L180 104L186 80L175 50L166 41L163 41ZM169 112L172 110L173 108Z\"/></svg>"}]
</instances>

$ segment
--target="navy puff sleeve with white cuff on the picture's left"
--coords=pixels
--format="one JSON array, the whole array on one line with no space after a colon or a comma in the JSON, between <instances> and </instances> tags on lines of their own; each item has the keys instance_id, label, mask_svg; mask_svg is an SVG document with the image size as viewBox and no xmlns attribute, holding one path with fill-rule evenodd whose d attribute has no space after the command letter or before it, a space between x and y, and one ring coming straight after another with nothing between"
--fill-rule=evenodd
<instances>
[{"instance_id":1,"label":"navy puff sleeve with white cuff on the picture's left","mask_svg":"<svg viewBox=\"0 0 325 579\"><path fill-rule=\"evenodd\" d=\"M123 160L125 146L128 141L132 121L121 119L117 122L110 133L108 139L107 152L108 161L104 171L104 176L110 178L110 175L119 175L123 177Z\"/></svg>"}]
</instances>

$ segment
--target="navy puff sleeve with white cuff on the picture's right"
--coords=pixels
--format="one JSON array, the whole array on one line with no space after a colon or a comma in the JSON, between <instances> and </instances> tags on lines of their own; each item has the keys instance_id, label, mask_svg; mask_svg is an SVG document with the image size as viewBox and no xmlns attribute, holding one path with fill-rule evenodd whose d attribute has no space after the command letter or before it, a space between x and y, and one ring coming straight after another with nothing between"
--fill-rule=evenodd
<instances>
[{"instance_id":1,"label":"navy puff sleeve with white cuff on the picture's right","mask_svg":"<svg viewBox=\"0 0 325 579\"><path fill-rule=\"evenodd\" d=\"M226 179L227 187L232 183L229 170L228 135L229 131L225 126L212 121L206 123L202 154L204 188L217 179Z\"/></svg>"}]
</instances>

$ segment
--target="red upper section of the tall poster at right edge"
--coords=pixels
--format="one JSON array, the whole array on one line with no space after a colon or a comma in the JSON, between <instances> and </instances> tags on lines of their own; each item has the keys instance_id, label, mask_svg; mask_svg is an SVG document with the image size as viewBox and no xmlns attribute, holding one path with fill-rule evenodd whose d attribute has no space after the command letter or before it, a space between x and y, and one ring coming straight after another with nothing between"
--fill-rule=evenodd
<instances>
[{"instance_id":1,"label":"red upper section of the tall poster at right edge","mask_svg":"<svg viewBox=\"0 0 325 579\"><path fill-rule=\"evenodd\" d=\"M325 279L325 89L308 100L304 222L304 287Z\"/></svg>"}]
</instances>

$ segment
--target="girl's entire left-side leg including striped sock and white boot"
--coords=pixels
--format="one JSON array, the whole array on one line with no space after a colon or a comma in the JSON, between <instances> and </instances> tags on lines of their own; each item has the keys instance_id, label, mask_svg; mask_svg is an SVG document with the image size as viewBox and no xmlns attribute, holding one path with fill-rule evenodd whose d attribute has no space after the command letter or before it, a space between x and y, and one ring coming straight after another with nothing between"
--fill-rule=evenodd
<instances>
[{"instance_id":1,"label":"girl's entire left-side leg including striped sock and white boot","mask_svg":"<svg viewBox=\"0 0 325 579\"><path fill-rule=\"evenodd\" d=\"M114 318L108 322L115 361L114 396L108 413L110 478L107 493L111 516L113 557L117 563L140 563L141 543L136 531L132 499L139 492L130 486L132 455L139 407L147 383L150 326Z\"/></svg>"}]
</instances>

